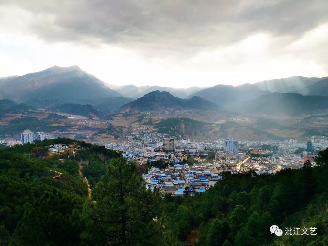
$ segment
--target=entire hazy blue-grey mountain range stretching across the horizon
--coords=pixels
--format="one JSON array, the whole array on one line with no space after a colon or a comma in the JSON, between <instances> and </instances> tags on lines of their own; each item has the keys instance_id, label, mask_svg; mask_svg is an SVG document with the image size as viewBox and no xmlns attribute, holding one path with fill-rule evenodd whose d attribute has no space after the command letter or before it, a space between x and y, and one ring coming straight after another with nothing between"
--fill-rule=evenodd
<instances>
[{"instance_id":1,"label":"entire hazy blue-grey mountain range stretching across the horizon","mask_svg":"<svg viewBox=\"0 0 328 246\"><path fill-rule=\"evenodd\" d=\"M266 80L236 87L222 84L210 88L187 89L117 86L106 84L76 65L67 68L53 66L23 76L0 78L0 94L3 99L37 107L90 104L93 109L103 113L113 113L120 107L122 107L120 110L154 110L159 107L179 106L216 111L226 108L238 113L280 112L297 115L324 112L327 108L327 92L328 78L302 76ZM317 95L322 97L311 97ZM133 101L135 98L139 99ZM71 105L70 108L79 107Z\"/></svg>"}]
</instances>

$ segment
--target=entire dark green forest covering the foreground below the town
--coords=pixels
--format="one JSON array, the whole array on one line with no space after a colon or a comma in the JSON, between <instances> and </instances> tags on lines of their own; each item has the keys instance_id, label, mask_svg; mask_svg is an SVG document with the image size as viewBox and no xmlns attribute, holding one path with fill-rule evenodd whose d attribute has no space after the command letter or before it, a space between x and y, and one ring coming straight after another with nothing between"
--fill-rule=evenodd
<instances>
[{"instance_id":1,"label":"entire dark green forest covering the foreground below the town","mask_svg":"<svg viewBox=\"0 0 328 246\"><path fill-rule=\"evenodd\" d=\"M49 154L55 143L78 150ZM315 167L226 172L192 197L152 192L121 156L65 138L1 148L0 245L328 245L328 149Z\"/></svg>"}]
</instances>

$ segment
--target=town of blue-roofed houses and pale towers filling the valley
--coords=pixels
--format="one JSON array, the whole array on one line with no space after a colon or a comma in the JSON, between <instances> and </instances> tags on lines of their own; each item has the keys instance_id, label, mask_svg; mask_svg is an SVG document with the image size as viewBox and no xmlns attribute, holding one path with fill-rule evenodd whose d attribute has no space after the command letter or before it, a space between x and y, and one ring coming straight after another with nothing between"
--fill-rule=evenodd
<instances>
[{"instance_id":1,"label":"town of blue-roofed houses and pale towers filling the valley","mask_svg":"<svg viewBox=\"0 0 328 246\"><path fill-rule=\"evenodd\" d=\"M51 138L50 133L25 130L21 133L21 139L0 140L0 143L14 146ZM314 166L315 154L328 147L328 137L325 136L312 136L306 143L298 143L294 139L194 141L176 139L174 136L163 137L156 132L130 139L128 144L113 142L105 147L121 151L124 158L142 167L142 176L149 189L157 187L163 193L174 196L204 192L227 172L250 172L252 176L275 174L285 168L301 168L307 160ZM69 146L60 144L49 146L51 153L63 153L67 149Z\"/></svg>"}]
</instances>

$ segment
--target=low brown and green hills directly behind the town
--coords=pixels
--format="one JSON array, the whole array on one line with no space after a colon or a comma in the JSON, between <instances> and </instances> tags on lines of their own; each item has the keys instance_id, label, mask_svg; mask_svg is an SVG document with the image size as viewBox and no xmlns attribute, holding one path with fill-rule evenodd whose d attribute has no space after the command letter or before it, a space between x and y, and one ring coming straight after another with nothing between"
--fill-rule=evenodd
<instances>
[{"instance_id":1,"label":"low brown and green hills directly behind the town","mask_svg":"<svg viewBox=\"0 0 328 246\"><path fill-rule=\"evenodd\" d=\"M234 136L237 139L265 141L303 138L310 134L309 129L282 126L276 121L265 118L258 118L255 122L243 125L235 121L218 124L190 118L167 118L154 124L154 128L168 136L195 140L216 140Z\"/></svg>"}]
</instances>

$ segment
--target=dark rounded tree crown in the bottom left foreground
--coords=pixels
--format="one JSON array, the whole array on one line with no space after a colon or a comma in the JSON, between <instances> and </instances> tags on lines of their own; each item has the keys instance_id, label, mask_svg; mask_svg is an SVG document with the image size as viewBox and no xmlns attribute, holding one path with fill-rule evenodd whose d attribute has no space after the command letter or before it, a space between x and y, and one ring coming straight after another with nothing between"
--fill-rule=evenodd
<instances>
[{"instance_id":1,"label":"dark rounded tree crown in the bottom left foreground","mask_svg":"<svg viewBox=\"0 0 328 246\"><path fill-rule=\"evenodd\" d=\"M14 245L79 245L82 201L77 197L57 189L44 192L23 216Z\"/></svg>"}]
</instances>

